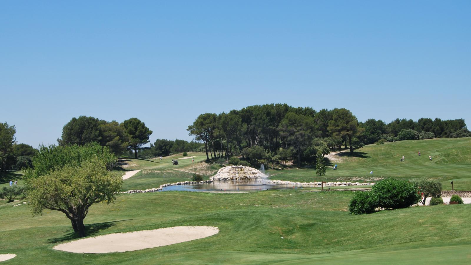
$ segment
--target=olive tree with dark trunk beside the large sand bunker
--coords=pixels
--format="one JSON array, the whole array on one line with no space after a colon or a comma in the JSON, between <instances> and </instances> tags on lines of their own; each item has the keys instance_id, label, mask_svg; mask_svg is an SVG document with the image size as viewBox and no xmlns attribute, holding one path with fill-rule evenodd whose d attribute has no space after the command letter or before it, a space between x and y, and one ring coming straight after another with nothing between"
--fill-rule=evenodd
<instances>
[{"instance_id":1,"label":"olive tree with dark trunk beside the large sand bunker","mask_svg":"<svg viewBox=\"0 0 471 265\"><path fill-rule=\"evenodd\" d=\"M94 203L112 203L122 186L97 157L28 180L28 201L34 215L44 209L56 210L70 219L74 232L85 236L83 219Z\"/></svg>"}]
</instances>

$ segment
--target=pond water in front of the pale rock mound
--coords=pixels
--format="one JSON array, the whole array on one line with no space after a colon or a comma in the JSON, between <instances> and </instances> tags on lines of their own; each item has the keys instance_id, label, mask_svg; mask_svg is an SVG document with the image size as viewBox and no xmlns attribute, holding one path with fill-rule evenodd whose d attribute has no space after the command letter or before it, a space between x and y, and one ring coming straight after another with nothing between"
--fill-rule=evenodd
<instances>
[{"instance_id":1,"label":"pond water in front of the pale rock mound","mask_svg":"<svg viewBox=\"0 0 471 265\"><path fill-rule=\"evenodd\" d=\"M163 188L160 191L244 191L244 190L267 190L267 189L290 189L290 188L314 188L320 185L292 185L292 184L273 184L266 180L235 180L235 181L214 181L202 184L174 185Z\"/></svg>"}]
</instances>

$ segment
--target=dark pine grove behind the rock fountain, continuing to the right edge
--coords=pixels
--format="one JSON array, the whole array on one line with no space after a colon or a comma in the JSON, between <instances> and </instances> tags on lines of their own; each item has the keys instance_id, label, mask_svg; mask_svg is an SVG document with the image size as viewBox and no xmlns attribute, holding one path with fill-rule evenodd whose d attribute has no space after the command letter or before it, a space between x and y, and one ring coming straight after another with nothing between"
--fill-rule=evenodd
<instances>
[{"instance_id":1,"label":"dark pine grove behind the rock fountain, continuing to the right edge","mask_svg":"<svg viewBox=\"0 0 471 265\"><path fill-rule=\"evenodd\" d=\"M420 135L423 139L471 136L463 119L421 118L417 122L396 119L389 124L375 119L358 122L345 108L316 111L287 104L204 113L187 131L196 141L203 142L207 159L236 153L254 162L292 157L298 165L316 161L319 151L328 153L325 147L332 150L348 146L353 153L354 149L380 140L414 140L421 139ZM410 135L410 131L414 133Z\"/></svg>"}]
</instances>

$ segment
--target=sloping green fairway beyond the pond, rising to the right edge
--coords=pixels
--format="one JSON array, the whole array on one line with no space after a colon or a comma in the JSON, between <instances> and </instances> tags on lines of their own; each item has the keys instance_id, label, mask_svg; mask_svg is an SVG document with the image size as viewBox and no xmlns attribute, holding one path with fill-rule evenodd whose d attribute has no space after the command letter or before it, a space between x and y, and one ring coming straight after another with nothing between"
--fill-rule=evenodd
<instances>
[{"instance_id":1,"label":"sloping green fairway beyond the pond, rising to the right edge","mask_svg":"<svg viewBox=\"0 0 471 265\"><path fill-rule=\"evenodd\" d=\"M421 151L422 156L417 155ZM432 161L429 160L432 156ZM405 161L400 158L405 156ZM398 141L369 145L340 156L338 170L327 168L325 176L317 176L314 168L268 170L271 179L296 182L351 181L374 182L378 178L437 178L444 190L471 190L471 138L439 138L420 141ZM374 174L369 174L373 171Z\"/></svg>"}]
</instances>

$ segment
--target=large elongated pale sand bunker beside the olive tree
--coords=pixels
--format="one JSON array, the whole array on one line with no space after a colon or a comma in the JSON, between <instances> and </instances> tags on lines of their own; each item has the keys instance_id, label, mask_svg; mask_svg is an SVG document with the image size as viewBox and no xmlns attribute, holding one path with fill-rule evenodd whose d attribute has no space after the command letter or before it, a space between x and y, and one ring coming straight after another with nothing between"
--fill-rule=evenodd
<instances>
[{"instance_id":1,"label":"large elongated pale sand bunker beside the olive tree","mask_svg":"<svg viewBox=\"0 0 471 265\"><path fill-rule=\"evenodd\" d=\"M125 252L202 239L218 232L219 228L214 226L175 226L85 238L59 244L54 249L73 253Z\"/></svg>"}]
</instances>

